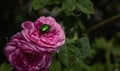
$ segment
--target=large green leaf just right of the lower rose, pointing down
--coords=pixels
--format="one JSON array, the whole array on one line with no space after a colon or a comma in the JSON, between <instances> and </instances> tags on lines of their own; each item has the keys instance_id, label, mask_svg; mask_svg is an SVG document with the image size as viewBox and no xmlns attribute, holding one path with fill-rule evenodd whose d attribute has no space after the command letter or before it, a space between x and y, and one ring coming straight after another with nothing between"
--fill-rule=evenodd
<instances>
[{"instance_id":1,"label":"large green leaf just right of the lower rose, pointing down","mask_svg":"<svg viewBox=\"0 0 120 71\"><path fill-rule=\"evenodd\" d=\"M64 45L58 53L58 59L60 63L63 64L66 68L71 67L76 60L77 51L78 49L72 44Z\"/></svg>"}]
</instances>

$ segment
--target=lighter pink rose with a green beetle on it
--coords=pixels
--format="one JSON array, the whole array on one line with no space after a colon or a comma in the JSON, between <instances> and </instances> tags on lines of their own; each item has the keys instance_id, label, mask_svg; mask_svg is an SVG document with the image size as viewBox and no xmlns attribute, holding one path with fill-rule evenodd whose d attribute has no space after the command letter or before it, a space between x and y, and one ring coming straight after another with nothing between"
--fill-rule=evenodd
<instances>
[{"instance_id":1,"label":"lighter pink rose with a green beetle on it","mask_svg":"<svg viewBox=\"0 0 120 71\"><path fill-rule=\"evenodd\" d=\"M60 24L52 17L40 17L35 22L22 24L23 37L30 43L39 46L42 51L54 52L65 43L65 34Z\"/></svg>"}]
</instances>

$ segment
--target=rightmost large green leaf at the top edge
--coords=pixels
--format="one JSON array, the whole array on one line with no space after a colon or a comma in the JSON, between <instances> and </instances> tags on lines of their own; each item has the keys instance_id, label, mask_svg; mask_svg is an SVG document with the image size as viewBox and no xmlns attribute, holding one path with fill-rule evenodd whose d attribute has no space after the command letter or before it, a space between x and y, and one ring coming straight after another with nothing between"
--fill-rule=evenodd
<instances>
[{"instance_id":1,"label":"rightmost large green leaf at the top edge","mask_svg":"<svg viewBox=\"0 0 120 71\"><path fill-rule=\"evenodd\" d=\"M93 14L93 3L90 0L78 0L77 8L85 14Z\"/></svg>"}]
</instances>

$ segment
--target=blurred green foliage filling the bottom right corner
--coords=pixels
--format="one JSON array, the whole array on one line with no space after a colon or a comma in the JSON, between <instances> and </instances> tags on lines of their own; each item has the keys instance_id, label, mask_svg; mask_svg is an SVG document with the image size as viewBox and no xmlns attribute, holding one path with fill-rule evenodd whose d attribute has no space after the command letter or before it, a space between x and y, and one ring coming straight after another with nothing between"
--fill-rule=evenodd
<instances>
[{"instance_id":1,"label":"blurred green foliage filling the bottom right corner","mask_svg":"<svg viewBox=\"0 0 120 71\"><path fill-rule=\"evenodd\" d=\"M96 38L92 44L91 53L86 60L91 71L119 71L120 70L120 36L113 36L110 40L104 37ZM96 60L94 60L96 59Z\"/></svg>"}]
</instances>

